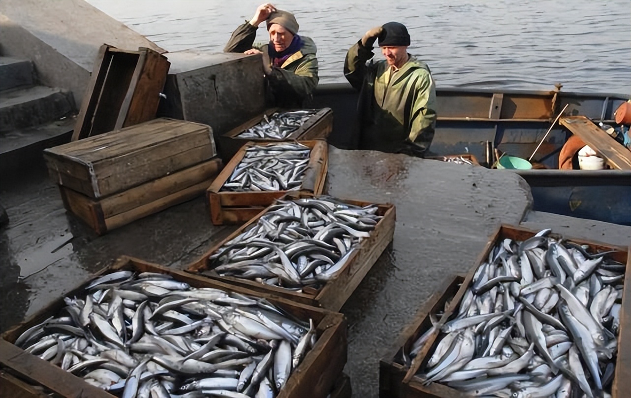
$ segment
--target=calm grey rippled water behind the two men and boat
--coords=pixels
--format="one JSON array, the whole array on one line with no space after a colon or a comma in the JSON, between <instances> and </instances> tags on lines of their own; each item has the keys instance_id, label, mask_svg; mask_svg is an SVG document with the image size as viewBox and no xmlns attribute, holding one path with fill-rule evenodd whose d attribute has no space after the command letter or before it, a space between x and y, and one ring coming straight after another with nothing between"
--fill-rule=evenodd
<instances>
[{"instance_id":1,"label":"calm grey rippled water behind the two men and boat","mask_svg":"<svg viewBox=\"0 0 631 398\"><path fill-rule=\"evenodd\" d=\"M168 51L220 52L262 0L88 0ZM396 20L439 87L631 92L631 3L617 1L277 1L318 46L322 82L345 81L346 50ZM263 25L261 25L263 26ZM266 40L259 28L257 40ZM380 54L379 54L380 56Z\"/></svg>"}]
</instances>

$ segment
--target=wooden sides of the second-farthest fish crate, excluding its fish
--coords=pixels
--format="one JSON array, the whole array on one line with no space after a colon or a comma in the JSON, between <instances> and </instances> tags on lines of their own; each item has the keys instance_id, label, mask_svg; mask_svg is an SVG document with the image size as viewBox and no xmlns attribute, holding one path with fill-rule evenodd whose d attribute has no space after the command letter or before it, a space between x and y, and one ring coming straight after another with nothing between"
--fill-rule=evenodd
<instances>
[{"instance_id":1,"label":"wooden sides of the second-farthest fish crate, excluding its fish","mask_svg":"<svg viewBox=\"0 0 631 398\"><path fill-rule=\"evenodd\" d=\"M329 164L329 147L325 141L314 140L300 142L311 148L309 167L305 171L300 191L320 195L324 191L324 181ZM276 143L249 142L240 148L237 154L228 162L219 176L209 186L206 197L210 206L210 219L215 225L240 224L251 220L261 210L268 207L274 200L285 196L290 191L221 191L223 184L228 181L234 169L245 156L245 150L255 145L276 145Z\"/></svg>"}]
</instances>

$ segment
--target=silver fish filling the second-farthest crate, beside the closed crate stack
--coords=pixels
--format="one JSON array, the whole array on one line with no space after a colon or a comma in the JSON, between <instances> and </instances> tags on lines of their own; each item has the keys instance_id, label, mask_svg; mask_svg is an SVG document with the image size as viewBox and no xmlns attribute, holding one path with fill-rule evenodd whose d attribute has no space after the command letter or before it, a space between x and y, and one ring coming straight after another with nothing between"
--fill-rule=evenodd
<instances>
[{"instance_id":1,"label":"silver fish filling the second-farthest crate, beside the closed crate stack","mask_svg":"<svg viewBox=\"0 0 631 398\"><path fill-rule=\"evenodd\" d=\"M252 145L221 186L221 191L299 190L311 148L300 143Z\"/></svg>"}]
</instances>

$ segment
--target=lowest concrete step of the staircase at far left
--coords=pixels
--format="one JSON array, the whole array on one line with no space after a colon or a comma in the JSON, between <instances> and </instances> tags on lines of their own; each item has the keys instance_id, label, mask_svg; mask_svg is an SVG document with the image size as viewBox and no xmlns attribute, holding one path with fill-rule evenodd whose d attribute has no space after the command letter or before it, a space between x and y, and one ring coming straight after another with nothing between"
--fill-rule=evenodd
<instances>
[{"instance_id":1,"label":"lowest concrete step of the staircase at far left","mask_svg":"<svg viewBox=\"0 0 631 398\"><path fill-rule=\"evenodd\" d=\"M76 117L41 124L35 127L12 130L0 135L0 180L44 164L42 150L70 142Z\"/></svg>"}]
</instances>

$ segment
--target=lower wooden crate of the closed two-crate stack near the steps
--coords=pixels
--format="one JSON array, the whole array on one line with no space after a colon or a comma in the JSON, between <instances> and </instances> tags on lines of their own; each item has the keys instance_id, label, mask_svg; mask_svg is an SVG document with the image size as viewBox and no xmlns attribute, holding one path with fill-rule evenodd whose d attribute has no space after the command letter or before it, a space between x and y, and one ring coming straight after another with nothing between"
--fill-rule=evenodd
<instances>
[{"instance_id":1,"label":"lower wooden crate of the closed two-crate stack near the steps","mask_svg":"<svg viewBox=\"0 0 631 398\"><path fill-rule=\"evenodd\" d=\"M221 159L211 159L100 199L62 185L59 185L59 192L66 210L101 235L202 195L222 166Z\"/></svg>"}]
</instances>

